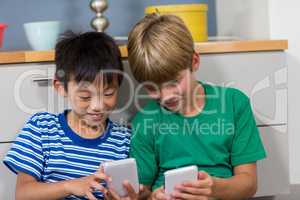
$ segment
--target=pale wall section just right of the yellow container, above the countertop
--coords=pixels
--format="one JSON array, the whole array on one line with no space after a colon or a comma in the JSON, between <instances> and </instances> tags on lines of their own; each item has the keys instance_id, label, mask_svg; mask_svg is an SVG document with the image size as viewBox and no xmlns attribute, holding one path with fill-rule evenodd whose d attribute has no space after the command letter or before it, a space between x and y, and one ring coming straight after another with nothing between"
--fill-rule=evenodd
<instances>
[{"instance_id":1,"label":"pale wall section just right of the yellow container, above the countertop","mask_svg":"<svg viewBox=\"0 0 300 200\"><path fill-rule=\"evenodd\" d=\"M216 0L217 34L269 38L268 0Z\"/></svg>"}]
</instances>

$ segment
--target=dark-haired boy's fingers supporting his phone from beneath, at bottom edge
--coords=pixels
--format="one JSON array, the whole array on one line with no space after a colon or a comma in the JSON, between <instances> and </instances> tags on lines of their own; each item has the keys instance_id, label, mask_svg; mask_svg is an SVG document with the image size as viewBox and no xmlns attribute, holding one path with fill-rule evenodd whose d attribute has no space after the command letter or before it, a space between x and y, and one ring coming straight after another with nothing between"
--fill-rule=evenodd
<instances>
[{"instance_id":1,"label":"dark-haired boy's fingers supporting his phone from beneath, at bottom edge","mask_svg":"<svg viewBox=\"0 0 300 200\"><path fill-rule=\"evenodd\" d=\"M113 200L137 200L139 199L139 194L143 193L145 188L143 185L140 185L139 193L136 193L132 185L128 181L124 181L123 187L127 191L128 195L126 197L120 197L116 191L113 189L109 189L105 193L105 199L113 199Z\"/></svg>"}]
</instances>

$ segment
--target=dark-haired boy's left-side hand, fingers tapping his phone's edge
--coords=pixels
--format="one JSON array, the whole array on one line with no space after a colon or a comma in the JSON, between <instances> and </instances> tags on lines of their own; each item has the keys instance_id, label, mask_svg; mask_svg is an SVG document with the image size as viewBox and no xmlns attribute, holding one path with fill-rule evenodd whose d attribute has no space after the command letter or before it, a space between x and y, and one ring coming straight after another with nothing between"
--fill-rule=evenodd
<instances>
[{"instance_id":1,"label":"dark-haired boy's left-side hand, fingers tapping his phone's edge","mask_svg":"<svg viewBox=\"0 0 300 200\"><path fill-rule=\"evenodd\" d=\"M92 194L94 191L105 193L105 188L101 185L101 181L110 181L110 177L103 173L102 168L96 173L83 178L66 181L65 189L70 195L86 197L89 200L97 200Z\"/></svg>"}]
</instances>

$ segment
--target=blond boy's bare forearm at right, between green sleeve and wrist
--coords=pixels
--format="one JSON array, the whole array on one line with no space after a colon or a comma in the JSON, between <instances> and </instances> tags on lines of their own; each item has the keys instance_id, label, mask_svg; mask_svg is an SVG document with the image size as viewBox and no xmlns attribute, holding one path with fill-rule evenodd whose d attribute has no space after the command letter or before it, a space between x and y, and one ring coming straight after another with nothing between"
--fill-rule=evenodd
<instances>
[{"instance_id":1,"label":"blond boy's bare forearm at right, between green sleeve and wrist","mask_svg":"<svg viewBox=\"0 0 300 200\"><path fill-rule=\"evenodd\" d=\"M241 173L231 178L214 177L212 196L222 200L241 200L252 197L256 193L256 179L250 174Z\"/></svg>"}]
</instances>

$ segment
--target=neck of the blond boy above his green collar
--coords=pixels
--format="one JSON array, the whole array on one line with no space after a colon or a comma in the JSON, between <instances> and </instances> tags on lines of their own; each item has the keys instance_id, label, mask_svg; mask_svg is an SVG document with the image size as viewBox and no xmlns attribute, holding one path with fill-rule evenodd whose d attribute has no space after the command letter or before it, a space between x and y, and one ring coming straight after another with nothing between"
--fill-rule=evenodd
<instances>
[{"instance_id":1,"label":"neck of the blond boy above his green collar","mask_svg":"<svg viewBox=\"0 0 300 200\"><path fill-rule=\"evenodd\" d=\"M197 81L193 80L191 87L188 90L185 104L183 105L182 115L195 116L202 112L205 105L205 92L203 86Z\"/></svg>"}]
</instances>

